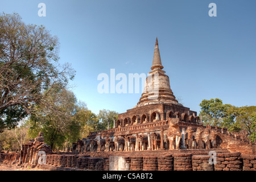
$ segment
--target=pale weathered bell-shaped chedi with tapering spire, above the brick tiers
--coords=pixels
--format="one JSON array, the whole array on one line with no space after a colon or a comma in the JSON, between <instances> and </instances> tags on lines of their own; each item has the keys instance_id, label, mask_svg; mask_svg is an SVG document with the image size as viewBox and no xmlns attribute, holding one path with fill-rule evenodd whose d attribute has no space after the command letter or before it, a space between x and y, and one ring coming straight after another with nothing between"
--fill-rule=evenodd
<instances>
[{"instance_id":1,"label":"pale weathered bell-shaped chedi with tapering spire, above the brick tiers","mask_svg":"<svg viewBox=\"0 0 256 182\"><path fill-rule=\"evenodd\" d=\"M170 87L170 80L165 71L160 57L158 38L155 42L155 52L153 57L152 71L145 81L144 91L138 104L135 107L140 107L148 104L176 104L181 105L175 99ZM182 105L181 105L182 106Z\"/></svg>"}]
</instances>

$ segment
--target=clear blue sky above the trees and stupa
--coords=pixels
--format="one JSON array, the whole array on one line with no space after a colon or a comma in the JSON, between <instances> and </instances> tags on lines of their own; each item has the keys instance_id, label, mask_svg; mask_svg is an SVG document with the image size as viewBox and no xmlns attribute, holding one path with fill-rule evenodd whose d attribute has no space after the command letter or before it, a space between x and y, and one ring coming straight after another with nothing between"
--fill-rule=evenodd
<instances>
[{"instance_id":1,"label":"clear blue sky above the trees and stupa","mask_svg":"<svg viewBox=\"0 0 256 182\"><path fill-rule=\"evenodd\" d=\"M46 17L38 16L39 3ZM216 17L208 15L209 3L216 3ZM156 36L163 70L184 106L199 112L210 98L256 104L255 0L0 0L0 11L59 37L60 63L76 70L72 90L96 114L137 105L141 93L98 93L97 76L112 68L148 73Z\"/></svg>"}]
</instances>

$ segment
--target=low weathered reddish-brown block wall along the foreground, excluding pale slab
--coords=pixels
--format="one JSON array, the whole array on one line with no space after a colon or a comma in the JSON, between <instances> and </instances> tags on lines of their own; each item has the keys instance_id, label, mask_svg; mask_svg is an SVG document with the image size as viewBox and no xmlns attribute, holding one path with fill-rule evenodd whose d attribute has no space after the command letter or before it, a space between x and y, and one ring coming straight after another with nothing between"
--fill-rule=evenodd
<instances>
[{"instance_id":1,"label":"low weathered reddish-brown block wall along the foreground, excluding pale slab","mask_svg":"<svg viewBox=\"0 0 256 182\"><path fill-rule=\"evenodd\" d=\"M18 153L1 154L0 157L5 163L19 161ZM205 154L180 153L161 156L123 156L123 158L130 165L130 171L256 171L256 155L241 155L240 152L217 153L217 164L213 165L209 164L210 156ZM46 163L37 166L47 170L109 171L109 158L92 158L88 155L49 154L46 155Z\"/></svg>"}]
</instances>

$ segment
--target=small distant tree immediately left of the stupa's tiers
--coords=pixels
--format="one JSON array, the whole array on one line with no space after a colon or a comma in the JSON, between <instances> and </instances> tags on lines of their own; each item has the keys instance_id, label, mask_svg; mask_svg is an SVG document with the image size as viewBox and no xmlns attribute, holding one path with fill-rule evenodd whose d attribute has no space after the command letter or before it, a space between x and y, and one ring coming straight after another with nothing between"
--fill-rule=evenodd
<instances>
[{"instance_id":1,"label":"small distant tree immediately left of the stupa's tiers","mask_svg":"<svg viewBox=\"0 0 256 182\"><path fill-rule=\"evenodd\" d=\"M109 129L113 128L114 118L118 117L118 113L116 111L110 110L100 110L98 114L98 118L100 119L100 130L107 130L108 129L108 122L109 122Z\"/></svg>"}]
</instances>

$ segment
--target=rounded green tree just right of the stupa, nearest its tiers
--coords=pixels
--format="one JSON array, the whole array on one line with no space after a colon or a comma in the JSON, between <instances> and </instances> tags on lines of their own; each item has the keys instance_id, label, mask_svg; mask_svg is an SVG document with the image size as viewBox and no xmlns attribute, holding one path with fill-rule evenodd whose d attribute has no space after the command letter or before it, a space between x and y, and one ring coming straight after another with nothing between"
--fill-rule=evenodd
<instances>
[{"instance_id":1,"label":"rounded green tree just right of the stupa, nearest its tiers","mask_svg":"<svg viewBox=\"0 0 256 182\"><path fill-rule=\"evenodd\" d=\"M212 98L210 100L203 100L200 106L201 111L199 115L201 115L204 125L209 123L211 126L218 126L222 122L225 112L232 105L223 104L219 98Z\"/></svg>"}]
</instances>

